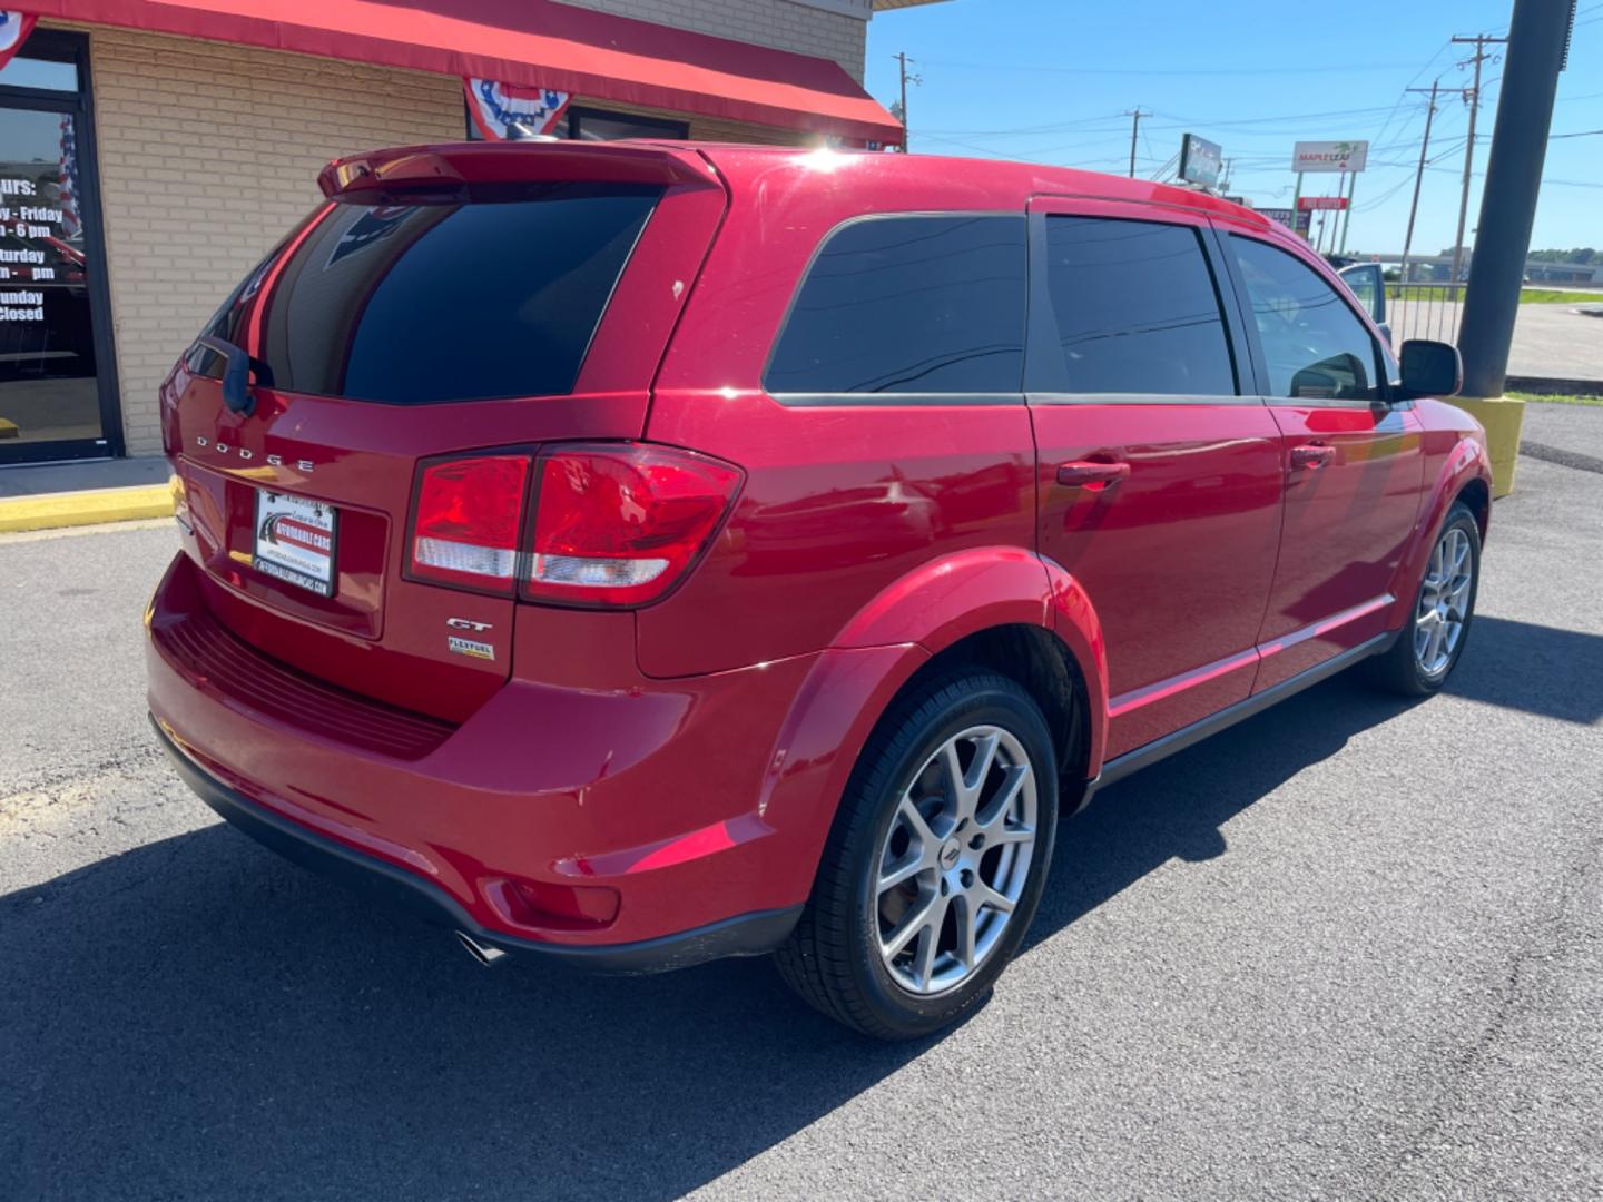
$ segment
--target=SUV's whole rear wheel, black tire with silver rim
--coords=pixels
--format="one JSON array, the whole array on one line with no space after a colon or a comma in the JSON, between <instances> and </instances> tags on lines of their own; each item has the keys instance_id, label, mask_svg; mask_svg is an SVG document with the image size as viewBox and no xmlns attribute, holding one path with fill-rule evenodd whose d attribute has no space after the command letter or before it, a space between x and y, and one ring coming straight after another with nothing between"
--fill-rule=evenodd
<instances>
[{"instance_id":1,"label":"SUV's whole rear wheel, black tire with silver rim","mask_svg":"<svg viewBox=\"0 0 1603 1202\"><path fill-rule=\"evenodd\" d=\"M955 1023L1018 950L1056 824L1056 752L1018 683L962 670L917 688L858 760L813 894L774 955L781 976L877 1039Z\"/></svg>"}]
</instances>

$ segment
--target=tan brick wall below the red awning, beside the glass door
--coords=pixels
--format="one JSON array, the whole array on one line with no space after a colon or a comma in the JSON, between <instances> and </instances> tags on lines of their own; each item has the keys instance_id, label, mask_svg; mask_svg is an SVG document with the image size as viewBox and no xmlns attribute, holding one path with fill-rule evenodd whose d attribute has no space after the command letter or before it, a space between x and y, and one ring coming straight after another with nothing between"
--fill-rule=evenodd
<instances>
[{"instance_id":1,"label":"tan brick wall below the red awning, beside the glass door","mask_svg":"<svg viewBox=\"0 0 1603 1202\"><path fill-rule=\"evenodd\" d=\"M329 159L462 136L446 75L95 29L101 200L128 454L155 389L229 290L321 200Z\"/></svg>"}]
</instances>

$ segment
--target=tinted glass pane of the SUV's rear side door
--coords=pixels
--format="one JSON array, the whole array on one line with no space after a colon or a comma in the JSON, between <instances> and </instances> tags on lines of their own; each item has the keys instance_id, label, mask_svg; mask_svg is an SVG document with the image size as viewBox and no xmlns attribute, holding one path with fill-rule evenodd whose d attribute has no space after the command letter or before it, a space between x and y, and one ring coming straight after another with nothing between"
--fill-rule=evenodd
<instances>
[{"instance_id":1,"label":"tinted glass pane of the SUV's rear side door","mask_svg":"<svg viewBox=\"0 0 1603 1202\"><path fill-rule=\"evenodd\" d=\"M1236 393L1218 288L1191 226L1048 215L1047 288L1066 391Z\"/></svg>"}]
</instances>

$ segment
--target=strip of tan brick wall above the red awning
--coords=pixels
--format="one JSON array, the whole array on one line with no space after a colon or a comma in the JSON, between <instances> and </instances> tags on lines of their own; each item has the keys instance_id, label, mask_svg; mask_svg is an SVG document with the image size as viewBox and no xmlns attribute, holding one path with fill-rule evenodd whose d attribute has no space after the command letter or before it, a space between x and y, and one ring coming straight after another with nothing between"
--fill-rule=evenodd
<instances>
[{"instance_id":1,"label":"strip of tan brick wall above the red awning","mask_svg":"<svg viewBox=\"0 0 1603 1202\"><path fill-rule=\"evenodd\" d=\"M561 0L577 8L633 16L675 29L832 58L862 82L869 22L797 0Z\"/></svg>"}]
</instances>

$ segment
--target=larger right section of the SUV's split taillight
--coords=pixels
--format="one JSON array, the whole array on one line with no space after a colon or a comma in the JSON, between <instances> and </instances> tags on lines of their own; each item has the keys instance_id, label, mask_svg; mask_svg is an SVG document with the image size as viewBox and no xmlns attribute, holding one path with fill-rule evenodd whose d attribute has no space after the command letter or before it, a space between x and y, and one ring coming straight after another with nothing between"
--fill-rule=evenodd
<instances>
[{"instance_id":1,"label":"larger right section of the SUV's split taillight","mask_svg":"<svg viewBox=\"0 0 1603 1202\"><path fill-rule=\"evenodd\" d=\"M523 585L531 601L638 606L673 587L729 510L741 471L641 444L540 457Z\"/></svg>"}]
</instances>

